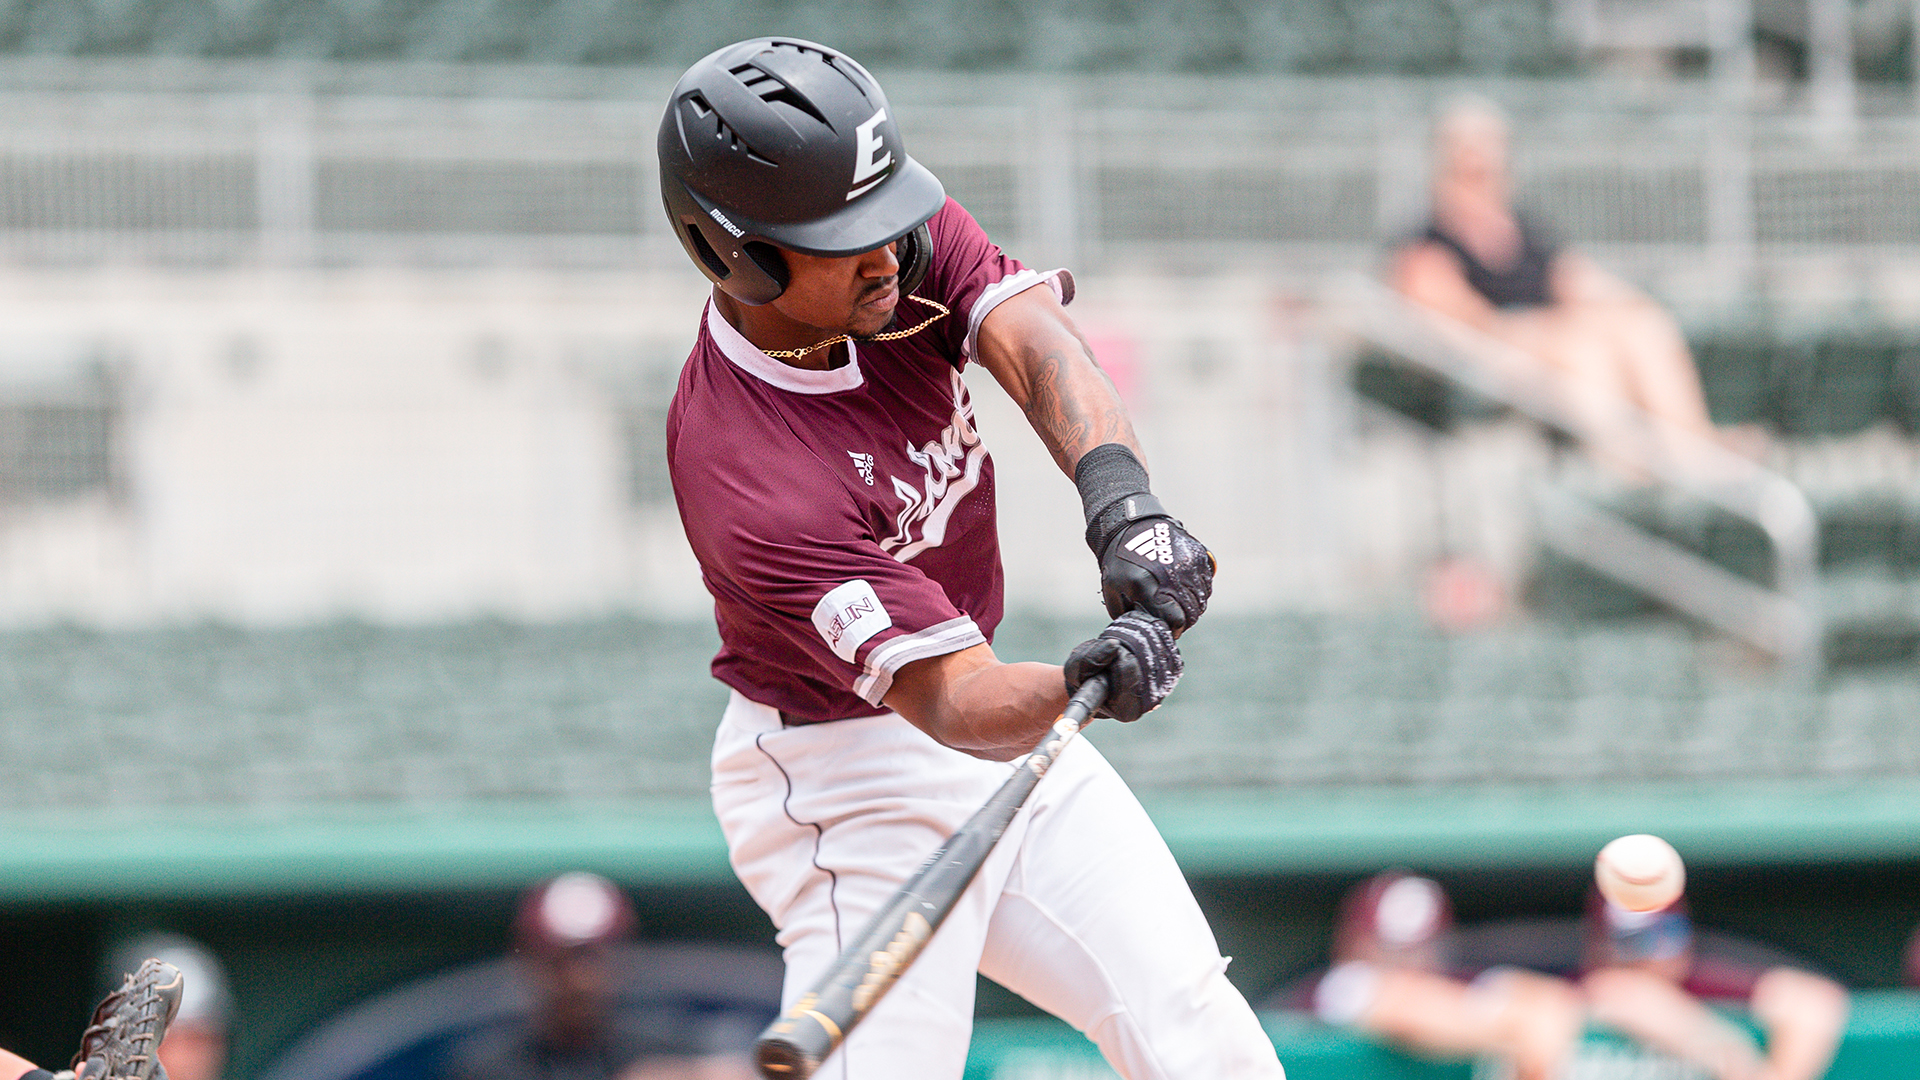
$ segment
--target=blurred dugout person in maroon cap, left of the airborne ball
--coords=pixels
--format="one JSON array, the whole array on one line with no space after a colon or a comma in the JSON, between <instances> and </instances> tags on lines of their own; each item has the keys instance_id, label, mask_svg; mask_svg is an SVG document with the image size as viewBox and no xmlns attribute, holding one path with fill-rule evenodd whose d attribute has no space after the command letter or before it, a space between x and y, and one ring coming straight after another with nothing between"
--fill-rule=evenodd
<instances>
[{"instance_id":1,"label":"blurred dugout person in maroon cap, left of the airborne ball","mask_svg":"<svg viewBox=\"0 0 1920 1080\"><path fill-rule=\"evenodd\" d=\"M1461 978L1448 947L1452 922L1446 892L1428 878L1388 871L1361 882L1340 903L1313 1013L1423 1055L1500 1057L1517 1080L1557 1076L1580 1038L1578 992L1503 967Z\"/></svg>"}]
</instances>

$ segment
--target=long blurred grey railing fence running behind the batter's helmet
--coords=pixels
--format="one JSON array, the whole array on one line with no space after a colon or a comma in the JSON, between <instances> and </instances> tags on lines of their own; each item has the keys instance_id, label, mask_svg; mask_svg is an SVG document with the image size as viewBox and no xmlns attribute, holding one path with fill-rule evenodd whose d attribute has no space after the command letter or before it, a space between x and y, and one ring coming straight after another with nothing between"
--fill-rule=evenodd
<instances>
[{"instance_id":1,"label":"long blurred grey railing fence running behind the batter's helmet","mask_svg":"<svg viewBox=\"0 0 1920 1080\"><path fill-rule=\"evenodd\" d=\"M0 259L680 258L653 175L670 71L223 71L0 63ZM904 73L889 88L912 154L1029 261L1363 267L1419 221L1427 125L1463 88L1513 113L1526 206L1630 271L1764 279L1807 254L1920 252L1905 98L1866 102L1836 148L1805 108L1686 81Z\"/></svg>"}]
</instances>

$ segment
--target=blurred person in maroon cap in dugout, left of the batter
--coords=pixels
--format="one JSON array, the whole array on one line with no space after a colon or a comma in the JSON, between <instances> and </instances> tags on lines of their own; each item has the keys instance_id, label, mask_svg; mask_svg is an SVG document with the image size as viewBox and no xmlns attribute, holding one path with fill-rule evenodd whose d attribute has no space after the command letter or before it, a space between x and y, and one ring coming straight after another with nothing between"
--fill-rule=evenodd
<instances>
[{"instance_id":1,"label":"blurred person in maroon cap in dugout, left of the batter","mask_svg":"<svg viewBox=\"0 0 1920 1080\"><path fill-rule=\"evenodd\" d=\"M632 934L634 907L607 878L568 872L528 890L513 924L526 1020L457 1043L442 1078L751 1080L743 1053L710 1053L701 1032L620 1007L618 947Z\"/></svg>"}]
</instances>

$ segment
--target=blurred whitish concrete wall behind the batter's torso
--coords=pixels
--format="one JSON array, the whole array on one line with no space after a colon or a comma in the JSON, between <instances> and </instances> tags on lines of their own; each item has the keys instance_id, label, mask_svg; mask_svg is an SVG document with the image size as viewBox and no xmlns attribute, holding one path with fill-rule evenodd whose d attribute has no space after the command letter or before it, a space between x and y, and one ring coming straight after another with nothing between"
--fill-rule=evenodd
<instances>
[{"instance_id":1,"label":"blurred whitish concrete wall behind the batter's torso","mask_svg":"<svg viewBox=\"0 0 1920 1080\"><path fill-rule=\"evenodd\" d=\"M0 277L0 404L104 363L123 409L109 488L0 505L0 619L697 615L659 425L703 296L678 267ZM1298 296L1108 275L1075 317L1221 607L1340 601L1419 557L1380 530L1425 528L1398 505L1425 446L1354 450ZM972 379L1012 603L1089 603L1071 484Z\"/></svg>"}]
</instances>

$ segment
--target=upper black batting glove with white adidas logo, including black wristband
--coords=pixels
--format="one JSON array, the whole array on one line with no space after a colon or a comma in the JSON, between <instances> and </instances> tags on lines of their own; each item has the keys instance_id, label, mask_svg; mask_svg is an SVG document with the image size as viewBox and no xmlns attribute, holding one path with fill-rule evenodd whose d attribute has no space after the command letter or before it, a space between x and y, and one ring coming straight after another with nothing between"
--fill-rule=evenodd
<instances>
[{"instance_id":1,"label":"upper black batting glove with white adidas logo, including black wristband","mask_svg":"<svg viewBox=\"0 0 1920 1080\"><path fill-rule=\"evenodd\" d=\"M1146 469L1117 442L1073 467L1087 546L1100 559L1100 600L1119 617L1140 609L1181 636L1213 596L1213 553L1146 490Z\"/></svg>"}]
</instances>

